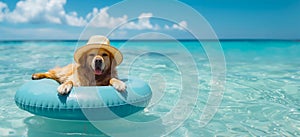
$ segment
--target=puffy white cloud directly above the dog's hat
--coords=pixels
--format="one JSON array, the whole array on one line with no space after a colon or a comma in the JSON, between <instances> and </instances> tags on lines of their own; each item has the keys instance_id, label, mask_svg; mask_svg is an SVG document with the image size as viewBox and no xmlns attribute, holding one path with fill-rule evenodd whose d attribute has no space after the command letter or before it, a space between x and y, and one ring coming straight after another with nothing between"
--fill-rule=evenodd
<instances>
[{"instance_id":1,"label":"puffy white cloud directly above the dog's hat","mask_svg":"<svg viewBox=\"0 0 300 137\"><path fill-rule=\"evenodd\" d=\"M93 27L114 28L127 21L127 15L123 15L122 17L111 17L107 13L107 10L108 7L102 9L94 8L93 11L86 16L87 20L92 19L89 25Z\"/></svg>"}]
</instances>

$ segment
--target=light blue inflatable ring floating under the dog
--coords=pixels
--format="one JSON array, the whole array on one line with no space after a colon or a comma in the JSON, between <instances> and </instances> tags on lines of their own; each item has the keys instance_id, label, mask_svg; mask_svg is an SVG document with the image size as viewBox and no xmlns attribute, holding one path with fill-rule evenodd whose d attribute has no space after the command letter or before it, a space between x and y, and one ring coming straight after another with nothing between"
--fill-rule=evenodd
<instances>
[{"instance_id":1,"label":"light blue inflatable ring floating under the dog","mask_svg":"<svg viewBox=\"0 0 300 137\"><path fill-rule=\"evenodd\" d=\"M111 86L73 87L68 95L59 95L59 84L43 79L25 83L16 92L17 106L32 114L66 120L109 120L143 110L152 92L147 83L135 78L121 79L125 92Z\"/></svg>"}]
</instances>

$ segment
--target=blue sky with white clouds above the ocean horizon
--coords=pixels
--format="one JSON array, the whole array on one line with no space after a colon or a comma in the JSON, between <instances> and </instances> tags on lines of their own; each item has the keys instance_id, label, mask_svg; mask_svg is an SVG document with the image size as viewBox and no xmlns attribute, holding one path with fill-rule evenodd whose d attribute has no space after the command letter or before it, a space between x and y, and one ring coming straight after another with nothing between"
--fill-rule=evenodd
<instances>
[{"instance_id":1,"label":"blue sky with white clouds above the ocean horizon","mask_svg":"<svg viewBox=\"0 0 300 137\"><path fill-rule=\"evenodd\" d=\"M156 39L155 33L195 38L190 32L201 33L196 34L198 38L210 38L206 36L209 30L221 39L300 39L299 0L119 2L0 0L0 40L76 40L111 30L112 39L145 33L153 34L146 39ZM207 21L211 28L206 29L207 24L199 20Z\"/></svg>"}]
</instances>

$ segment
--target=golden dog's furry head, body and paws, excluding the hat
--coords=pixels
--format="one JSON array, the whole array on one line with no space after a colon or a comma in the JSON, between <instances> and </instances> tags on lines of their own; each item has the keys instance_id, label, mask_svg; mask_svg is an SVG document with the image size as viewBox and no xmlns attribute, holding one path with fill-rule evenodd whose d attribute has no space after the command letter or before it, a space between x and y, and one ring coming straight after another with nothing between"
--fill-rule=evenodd
<instances>
[{"instance_id":1,"label":"golden dog's furry head, body and paws, excluding the hat","mask_svg":"<svg viewBox=\"0 0 300 137\"><path fill-rule=\"evenodd\" d=\"M125 83L117 79L113 55L105 49L91 49L85 52L77 64L32 75L33 80L43 78L54 79L60 83L57 88L59 94L68 94L73 86L111 85L118 91L126 90Z\"/></svg>"}]
</instances>

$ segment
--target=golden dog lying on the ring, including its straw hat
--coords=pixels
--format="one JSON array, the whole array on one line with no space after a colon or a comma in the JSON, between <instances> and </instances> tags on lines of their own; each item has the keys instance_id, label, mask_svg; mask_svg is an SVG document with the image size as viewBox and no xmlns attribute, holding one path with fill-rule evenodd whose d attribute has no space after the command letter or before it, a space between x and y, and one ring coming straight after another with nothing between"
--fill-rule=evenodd
<instances>
[{"instance_id":1,"label":"golden dog lying on the ring, including its straw hat","mask_svg":"<svg viewBox=\"0 0 300 137\"><path fill-rule=\"evenodd\" d=\"M87 45L74 53L76 63L57 67L45 73L32 74L33 80L48 78L60 83L57 91L68 94L73 86L113 86L119 92L126 90L126 84L118 79L116 66L123 56L110 46L104 36L92 36Z\"/></svg>"}]
</instances>

